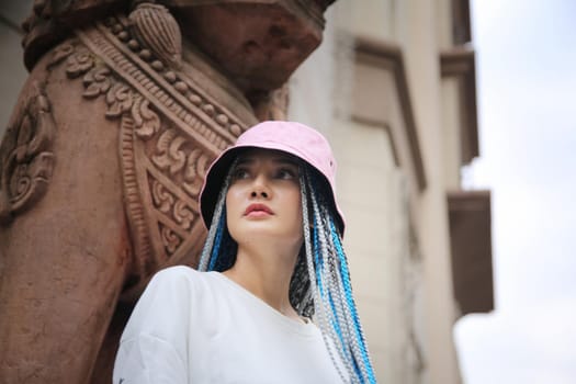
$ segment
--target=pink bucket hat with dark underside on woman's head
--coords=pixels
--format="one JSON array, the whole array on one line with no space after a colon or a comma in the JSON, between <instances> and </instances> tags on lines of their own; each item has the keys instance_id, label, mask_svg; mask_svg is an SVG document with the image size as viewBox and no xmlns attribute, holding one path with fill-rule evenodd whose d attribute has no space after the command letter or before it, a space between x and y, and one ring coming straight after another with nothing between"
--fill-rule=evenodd
<instances>
[{"instance_id":1,"label":"pink bucket hat with dark underside on woman's head","mask_svg":"<svg viewBox=\"0 0 576 384\"><path fill-rule=\"evenodd\" d=\"M281 121L262 122L252 126L210 166L200 192L200 212L206 227L210 227L212 222L216 201L228 169L234 159L248 148L281 150L298 157L316 169L330 187L329 201L337 214L340 233L343 235L345 218L336 203L336 160L330 145L316 129L301 123Z\"/></svg>"}]
</instances>

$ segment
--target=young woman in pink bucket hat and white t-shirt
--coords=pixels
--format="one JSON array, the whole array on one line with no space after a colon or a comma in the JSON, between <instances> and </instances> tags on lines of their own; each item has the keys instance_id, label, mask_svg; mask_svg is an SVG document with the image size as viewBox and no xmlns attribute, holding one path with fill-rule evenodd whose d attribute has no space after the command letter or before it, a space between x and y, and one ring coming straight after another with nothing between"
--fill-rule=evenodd
<instances>
[{"instance_id":1,"label":"young woman in pink bucket hat and white t-shirt","mask_svg":"<svg viewBox=\"0 0 576 384\"><path fill-rule=\"evenodd\" d=\"M114 383L375 383L335 171L324 136L293 122L260 123L225 150L200 195L201 272L150 281Z\"/></svg>"}]
</instances>

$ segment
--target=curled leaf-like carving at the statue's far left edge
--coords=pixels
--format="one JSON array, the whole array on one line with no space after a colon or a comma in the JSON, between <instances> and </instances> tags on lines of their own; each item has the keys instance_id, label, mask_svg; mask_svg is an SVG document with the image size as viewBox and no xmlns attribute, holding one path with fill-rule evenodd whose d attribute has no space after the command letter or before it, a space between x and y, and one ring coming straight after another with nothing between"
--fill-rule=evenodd
<instances>
[{"instance_id":1,"label":"curled leaf-like carving at the statue's far left edge","mask_svg":"<svg viewBox=\"0 0 576 384\"><path fill-rule=\"evenodd\" d=\"M48 187L55 132L43 84L34 82L26 104L16 111L0 147L0 224L29 208Z\"/></svg>"}]
</instances>

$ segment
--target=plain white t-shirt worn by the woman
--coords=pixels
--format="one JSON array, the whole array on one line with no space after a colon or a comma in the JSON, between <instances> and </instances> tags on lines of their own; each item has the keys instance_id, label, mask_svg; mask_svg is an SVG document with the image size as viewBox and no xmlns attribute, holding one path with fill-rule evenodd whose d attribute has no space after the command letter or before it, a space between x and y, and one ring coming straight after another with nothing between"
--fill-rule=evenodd
<instances>
[{"instance_id":1,"label":"plain white t-shirt worn by the woman","mask_svg":"<svg viewBox=\"0 0 576 384\"><path fill-rule=\"evenodd\" d=\"M341 366L341 365L340 365ZM341 383L320 330L218 272L158 272L122 335L114 384Z\"/></svg>"}]
</instances>

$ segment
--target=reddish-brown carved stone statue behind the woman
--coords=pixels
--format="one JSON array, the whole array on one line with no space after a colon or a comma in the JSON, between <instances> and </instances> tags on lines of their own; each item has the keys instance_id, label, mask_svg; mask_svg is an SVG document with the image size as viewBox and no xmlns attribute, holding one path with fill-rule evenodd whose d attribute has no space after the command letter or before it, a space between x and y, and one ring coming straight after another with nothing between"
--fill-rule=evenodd
<instances>
[{"instance_id":1,"label":"reddish-brown carved stone statue behind the woman","mask_svg":"<svg viewBox=\"0 0 576 384\"><path fill-rule=\"evenodd\" d=\"M35 1L0 147L0 382L110 382L151 274L196 262L206 167L285 116L332 1Z\"/></svg>"}]
</instances>

